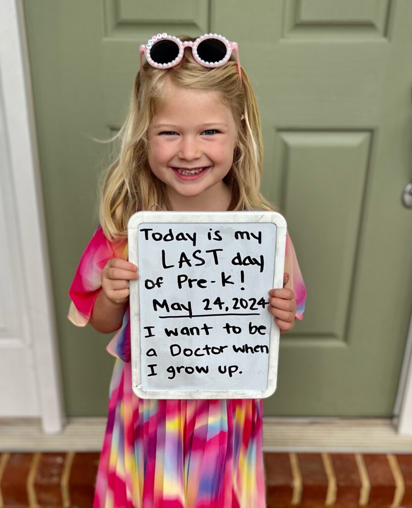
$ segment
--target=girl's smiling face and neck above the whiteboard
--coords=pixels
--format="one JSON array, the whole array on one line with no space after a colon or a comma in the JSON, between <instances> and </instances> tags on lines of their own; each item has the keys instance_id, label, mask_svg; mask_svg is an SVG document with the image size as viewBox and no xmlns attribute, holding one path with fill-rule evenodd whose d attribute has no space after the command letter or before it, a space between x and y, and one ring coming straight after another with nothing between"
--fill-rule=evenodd
<instances>
[{"instance_id":1,"label":"girl's smiling face and neck above the whiteboard","mask_svg":"<svg viewBox=\"0 0 412 508\"><path fill-rule=\"evenodd\" d=\"M150 168L166 184L173 210L227 210L231 196L222 180L233 162L232 113L217 92L171 83L168 91L150 123Z\"/></svg>"}]
</instances>

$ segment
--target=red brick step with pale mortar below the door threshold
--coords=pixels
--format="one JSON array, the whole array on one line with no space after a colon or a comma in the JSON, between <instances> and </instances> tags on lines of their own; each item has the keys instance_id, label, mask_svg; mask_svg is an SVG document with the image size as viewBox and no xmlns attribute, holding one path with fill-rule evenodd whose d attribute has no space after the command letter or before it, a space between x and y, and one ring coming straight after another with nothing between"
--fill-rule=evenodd
<instances>
[{"instance_id":1,"label":"red brick step with pale mortar below the door threshold","mask_svg":"<svg viewBox=\"0 0 412 508\"><path fill-rule=\"evenodd\" d=\"M99 453L0 454L0 508L91 508ZM265 453L267 508L412 508L412 455Z\"/></svg>"}]
</instances>

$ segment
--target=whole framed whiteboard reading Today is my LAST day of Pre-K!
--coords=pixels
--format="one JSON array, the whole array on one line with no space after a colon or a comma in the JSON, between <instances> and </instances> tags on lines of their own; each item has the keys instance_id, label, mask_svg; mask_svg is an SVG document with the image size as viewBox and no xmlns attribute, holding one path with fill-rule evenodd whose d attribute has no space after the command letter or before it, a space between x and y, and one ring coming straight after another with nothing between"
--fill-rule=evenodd
<instances>
[{"instance_id":1,"label":"whole framed whiteboard reading Today is my LAST day of Pre-K!","mask_svg":"<svg viewBox=\"0 0 412 508\"><path fill-rule=\"evenodd\" d=\"M143 211L128 222L133 391L264 398L276 390L286 220L271 211Z\"/></svg>"}]
</instances>

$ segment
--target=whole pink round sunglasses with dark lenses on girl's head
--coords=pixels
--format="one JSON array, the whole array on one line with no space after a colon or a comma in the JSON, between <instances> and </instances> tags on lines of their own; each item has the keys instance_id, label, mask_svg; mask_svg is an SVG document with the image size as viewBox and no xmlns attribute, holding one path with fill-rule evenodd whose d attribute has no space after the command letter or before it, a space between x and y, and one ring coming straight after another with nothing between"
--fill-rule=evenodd
<instances>
[{"instance_id":1,"label":"whole pink round sunglasses with dark lenses on girl's head","mask_svg":"<svg viewBox=\"0 0 412 508\"><path fill-rule=\"evenodd\" d=\"M224 65L232 52L236 53L237 72L242 83L241 61L237 42L230 42L220 34L204 34L195 41L182 42L178 37L157 34L140 46L140 77L142 79L143 54L152 67L170 69L183 59L183 50L192 48L193 58L203 67L220 67Z\"/></svg>"}]
</instances>

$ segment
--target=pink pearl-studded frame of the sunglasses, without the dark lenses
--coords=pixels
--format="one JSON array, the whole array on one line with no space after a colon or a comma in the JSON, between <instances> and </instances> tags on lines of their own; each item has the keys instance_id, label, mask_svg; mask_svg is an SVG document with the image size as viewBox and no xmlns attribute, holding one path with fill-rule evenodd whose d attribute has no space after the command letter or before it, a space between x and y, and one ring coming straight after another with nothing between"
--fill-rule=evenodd
<instances>
[{"instance_id":1,"label":"pink pearl-studded frame of the sunglasses, without the dark lenses","mask_svg":"<svg viewBox=\"0 0 412 508\"><path fill-rule=\"evenodd\" d=\"M226 46L226 54L225 56L217 61L209 62L201 59L197 53L197 47L199 44L201 44L203 41L207 39L215 39L220 42L222 42ZM150 51L153 48L153 46L159 42L159 41L171 41L177 44L179 47L179 54L176 58L171 60L167 63L158 63L153 60L153 58L150 55ZM226 37L223 37L220 34L204 34L200 37L198 37L195 41L185 41L182 42L178 37L168 35L166 33L163 34L157 34L154 35L151 39L148 40L147 44L142 44L140 46L140 78L142 79L142 69L143 69L143 55L145 55L146 60L150 63L152 67L155 67L156 69L170 69L170 67L174 67L178 65L182 59L183 59L183 52L186 47L192 48L192 54L193 58L199 63L199 65L203 67L221 67L224 65L230 58L230 55L234 51L236 53L236 61L237 61L237 72L239 74L239 78L242 83L242 73L241 73L241 61L239 59L239 51L237 48L237 42L230 42L226 39Z\"/></svg>"}]
</instances>

